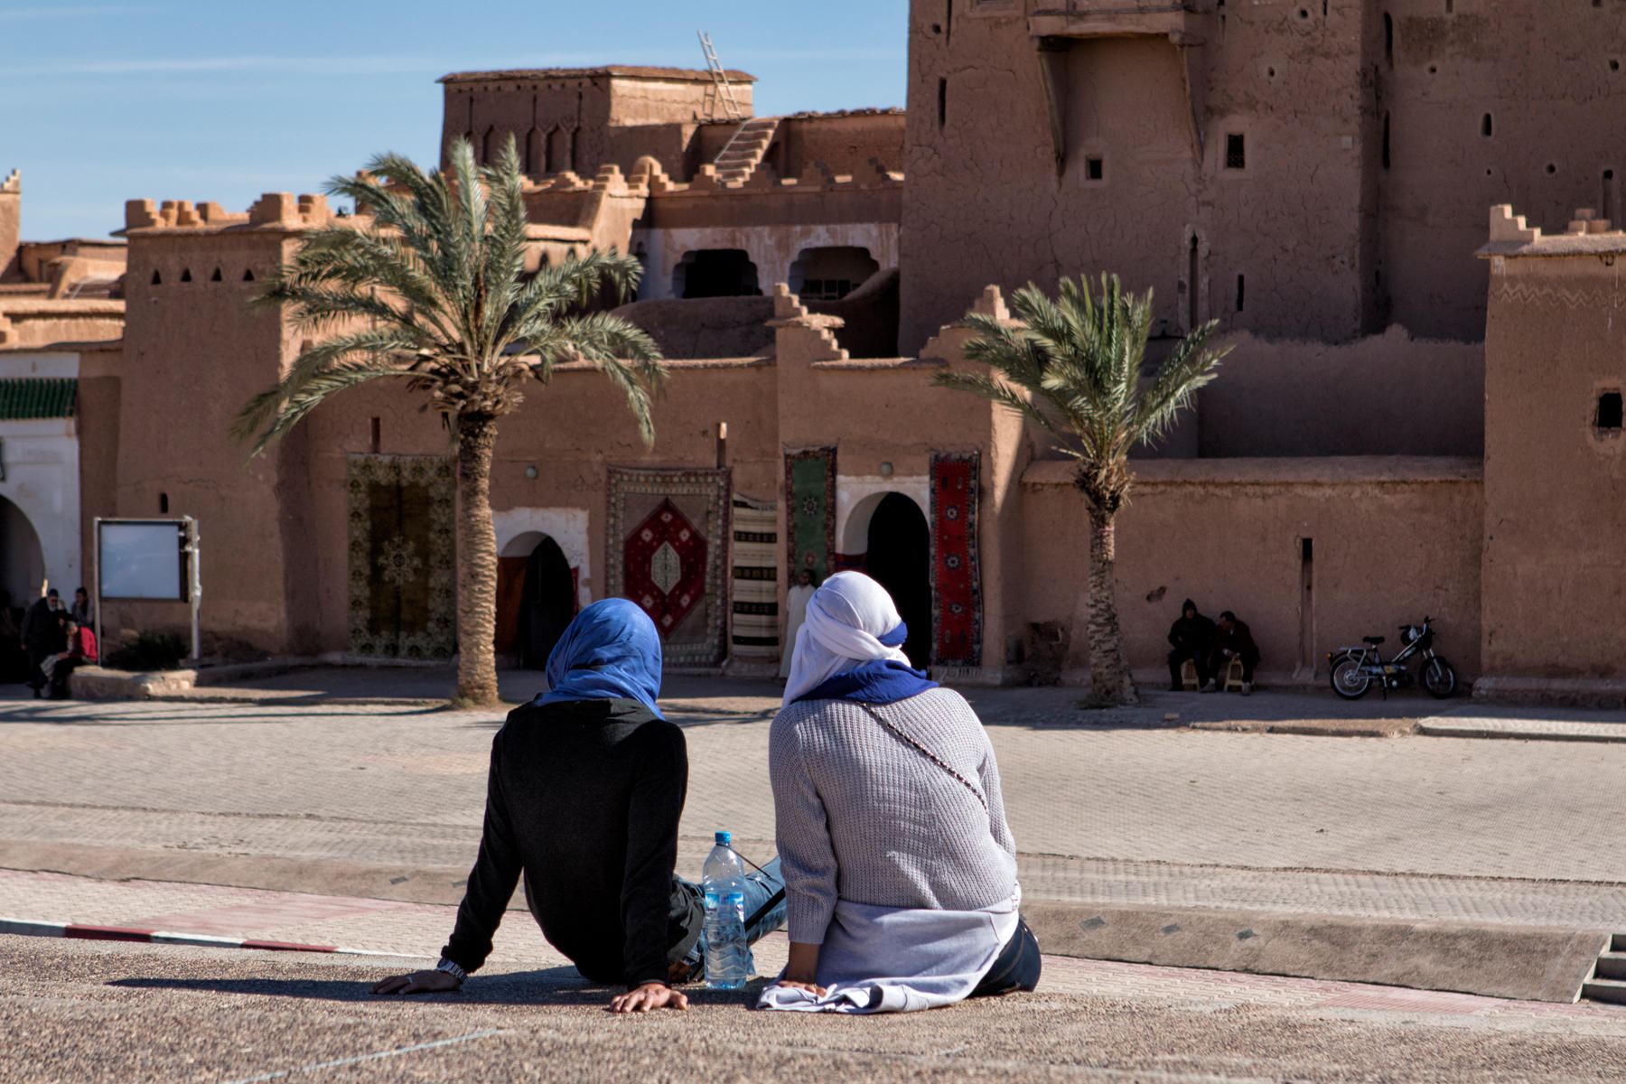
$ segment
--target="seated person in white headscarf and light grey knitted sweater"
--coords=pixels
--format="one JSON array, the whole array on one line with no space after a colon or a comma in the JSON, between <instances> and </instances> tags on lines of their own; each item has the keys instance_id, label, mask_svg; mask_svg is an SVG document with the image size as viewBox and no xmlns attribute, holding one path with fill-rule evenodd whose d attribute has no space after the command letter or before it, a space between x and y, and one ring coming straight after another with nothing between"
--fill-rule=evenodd
<instances>
[{"instance_id":1,"label":"seated person in white headscarf and light grey knitted sweater","mask_svg":"<svg viewBox=\"0 0 1626 1084\"><path fill-rule=\"evenodd\" d=\"M909 668L906 634L860 572L808 601L769 736L790 962L758 1008L930 1009L1039 982L993 748Z\"/></svg>"}]
</instances>

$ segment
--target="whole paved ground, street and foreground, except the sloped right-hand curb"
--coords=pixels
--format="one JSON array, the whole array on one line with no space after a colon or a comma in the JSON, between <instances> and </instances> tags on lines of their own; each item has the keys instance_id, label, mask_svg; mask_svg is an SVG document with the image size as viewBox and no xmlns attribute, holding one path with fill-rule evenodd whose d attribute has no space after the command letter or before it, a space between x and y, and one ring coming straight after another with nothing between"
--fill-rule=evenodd
<instances>
[{"instance_id":1,"label":"whole paved ground, street and foreground, except the sloped right-hand curb","mask_svg":"<svg viewBox=\"0 0 1626 1084\"><path fill-rule=\"evenodd\" d=\"M3 936L21 982L0 995L0 1081L691 1079L712 1050L727 1051L717 1079L1626 1077L1613 1006L1059 956L1036 995L912 1019L787 1021L702 995L683 1016L616 1021L524 915L467 993L371 999L367 982L436 956L478 843L501 712L447 710L437 679L306 671L177 702L0 700L0 918L411 957ZM504 694L535 679L506 674ZM771 853L776 686L675 678L667 692L691 759L680 873L699 873L719 827ZM1626 931L1619 713L1163 691L1101 713L1076 689L967 696L1031 900ZM1359 733L1392 736L1338 736ZM1507 736L1449 736L1486 733ZM309 1068L406 1047L423 1048Z\"/></svg>"}]
</instances>

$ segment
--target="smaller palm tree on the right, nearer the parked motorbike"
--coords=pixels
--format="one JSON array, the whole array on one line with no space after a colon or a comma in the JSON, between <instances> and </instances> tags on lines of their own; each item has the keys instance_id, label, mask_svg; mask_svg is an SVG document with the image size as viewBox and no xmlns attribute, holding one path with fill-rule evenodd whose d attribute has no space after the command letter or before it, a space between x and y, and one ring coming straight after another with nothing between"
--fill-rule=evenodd
<instances>
[{"instance_id":1,"label":"smaller palm tree on the right, nearer the parked motorbike","mask_svg":"<svg viewBox=\"0 0 1626 1084\"><path fill-rule=\"evenodd\" d=\"M941 372L935 384L982 395L1054 436L1078 462L1073 486L1089 509L1089 681L1098 704L1137 704L1117 618L1114 522L1128 501L1128 452L1163 437L1231 348L1208 349L1218 320L1192 330L1143 379L1151 291L1125 294L1117 275L1099 293L1063 278L1052 301L1029 283L1011 297L1021 323L972 314L966 358L990 372ZM995 375L997 374L997 375Z\"/></svg>"}]
</instances>

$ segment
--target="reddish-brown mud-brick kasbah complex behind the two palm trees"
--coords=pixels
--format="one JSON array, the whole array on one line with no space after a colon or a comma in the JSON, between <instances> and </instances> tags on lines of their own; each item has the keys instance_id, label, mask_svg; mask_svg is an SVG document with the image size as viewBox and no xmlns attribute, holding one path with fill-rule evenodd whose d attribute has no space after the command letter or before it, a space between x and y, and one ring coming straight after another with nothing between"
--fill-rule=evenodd
<instances>
[{"instance_id":1,"label":"reddish-brown mud-brick kasbah complex behind the two palm trees","mask_svg":"<svg viewBox=\"0 0 1626 1084\"><path fill-rule=\"evenodd\" d=\"M706 72L442 80L447 138L515 138L535 260L636 252L624 312L673 358L654 449L571 367L504 423L501 653L626 595L673 665L767 671L789 579L867 567L943 679L1081 681L1068 462L930 375L971 364L967 309L1115 271L1156 291L1154 353L1206 320L1236 348L1135 462L1145 679L1190 595L1249 621L1267 687L1431 614L1476 691L1618 705L1626 0L915 0L907 34L906 112L751 119L745 73L738 117ZM223 642L437 658L436 418L374 385L247 468L224 440L301 345L244 302L332 216L132 202L122 338L34 320L26 358L81 387L76 567L96 515L195 515ZM0 296L0 333L24 309Z\"/></svg>"}]
</instances>

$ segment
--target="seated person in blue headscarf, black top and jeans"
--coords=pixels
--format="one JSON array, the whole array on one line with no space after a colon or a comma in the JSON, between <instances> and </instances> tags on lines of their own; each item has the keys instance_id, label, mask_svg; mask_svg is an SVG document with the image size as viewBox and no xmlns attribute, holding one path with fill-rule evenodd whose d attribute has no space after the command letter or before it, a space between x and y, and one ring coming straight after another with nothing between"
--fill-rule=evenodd
<instances>
[{"instance_id":1,"label":"seated person in blue headscarf, black top and jeans","mask_svg":"<svg viewBox=\"0 0 1626 1084\"><path fill-rule=\"evenodd\" d=\"M689 761L683 731L655 705L655 624L623 598L593 603L548 657L548 684L491 741L480 858L439 965L374 993L462 986L489 956L524 873L548 943L589 980L626 985L611 1009L688 1008L673 985L702 970L704 907L673 874ZM777 863L748 876L750 941L784 921L776 895Z\"/></svg>"}]
</instances>

